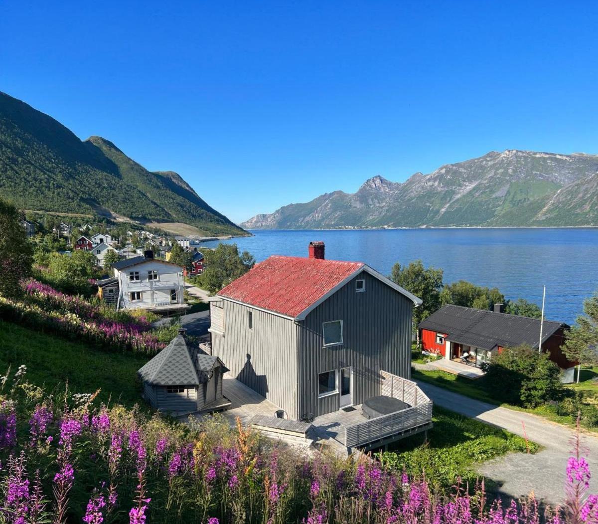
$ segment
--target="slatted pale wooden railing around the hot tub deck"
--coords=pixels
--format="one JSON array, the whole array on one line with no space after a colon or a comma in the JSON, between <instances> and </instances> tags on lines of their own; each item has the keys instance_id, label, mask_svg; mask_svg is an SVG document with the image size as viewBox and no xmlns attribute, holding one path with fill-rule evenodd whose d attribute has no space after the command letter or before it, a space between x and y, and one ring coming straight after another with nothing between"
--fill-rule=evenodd
<instances>
[{"instance_id":1,"label":"slatted pale wooden railing around the hot tub deck","mask_svg":"<svg viewBox=\"0 0 598 524\"><path fill-rule=\"evenodd\" d=\"M394 435L411 434L432 423L432 401L415 382L386 371L380 371L380 375L381 394L402 400L410 407L347 426L344 428L344 443L347 447L365 446Z\"/></svg>"}]
</instances>

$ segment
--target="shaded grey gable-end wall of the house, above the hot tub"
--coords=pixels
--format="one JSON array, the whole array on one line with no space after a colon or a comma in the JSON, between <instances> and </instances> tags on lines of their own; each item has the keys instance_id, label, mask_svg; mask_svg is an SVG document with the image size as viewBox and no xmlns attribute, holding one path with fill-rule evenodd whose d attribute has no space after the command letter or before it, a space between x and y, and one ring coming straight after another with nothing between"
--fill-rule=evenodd
<instances>
[{"instance_id":1,"label":"shaded grey gable-end wall of the house, above the hot tub","mask_svg":"<svg viewBox=\"0 0 598 524\"><path fill-rule=\"evenodd\" d=\"M365 279L356 293L355 280ZM318 373L353 367L353 404L380 395L380 371L411 377L411 312L407 297L362 272L300 323L299 412L316 416L340 408L339 395L318 399ZM343 344L324 348L322 323L343 321Z\"/></svg>"}]
</instances>

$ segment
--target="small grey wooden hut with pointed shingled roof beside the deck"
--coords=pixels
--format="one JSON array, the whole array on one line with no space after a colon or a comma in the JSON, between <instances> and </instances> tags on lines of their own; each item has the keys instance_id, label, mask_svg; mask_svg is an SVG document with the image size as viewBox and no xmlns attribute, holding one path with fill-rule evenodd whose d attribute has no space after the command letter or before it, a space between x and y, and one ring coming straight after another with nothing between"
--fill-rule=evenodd
<instances>
[{"instance_id":1,"label":"small grey wooden hut with pointed shingled roof beside the deck","mask_svg":"<svg viewBox=\"0 0 598 524\"><path fill-rule=\"evenodd\" d=\"M222 375L227 371L218 357L191 344L184 329L139 371L144 398L158 410L176 414L227 407Z\"/></svg>"}]
</instances>

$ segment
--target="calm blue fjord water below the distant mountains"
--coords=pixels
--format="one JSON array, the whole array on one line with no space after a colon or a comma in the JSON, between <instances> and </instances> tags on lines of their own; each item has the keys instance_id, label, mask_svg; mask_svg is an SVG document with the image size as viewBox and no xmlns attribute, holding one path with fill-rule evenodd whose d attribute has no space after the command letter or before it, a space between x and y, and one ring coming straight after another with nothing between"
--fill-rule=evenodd
<instances>
[{"instance_id":1,"label":"calm blue fjord water below the distant mountains","mask_svg":"<svg viewBox=\"0 0 598 524\"><path fill-rule=\"evenodd\" d=\"M498 287L507 298L542 303L548 319L573 322L598 289L598 229L401 229L252 231L227 240L257 261L270 255L307 256L310 240L324 240L326 257L362 261L383 275L395 262L420 258L444 269L444 282L464 279ZM205 245L215 247L218 242Z\"/></svg>"}]
</instances>

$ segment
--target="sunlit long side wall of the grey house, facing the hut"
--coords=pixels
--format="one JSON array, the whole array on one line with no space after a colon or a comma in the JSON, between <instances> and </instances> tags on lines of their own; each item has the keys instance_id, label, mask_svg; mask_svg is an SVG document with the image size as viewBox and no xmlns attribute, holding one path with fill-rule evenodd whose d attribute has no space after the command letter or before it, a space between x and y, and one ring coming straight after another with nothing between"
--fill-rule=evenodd
<instances>
[{"instance_id":1,"label":"sunlit long side wall of the grey house, facing the hut","mask_svg":"<svg viewBox=\"0 0 598 524\"><path fill-rule=\"evenodd\" d=\"M233 377L298 418L297 325L292 320L228 300L222 305L224 337L212 333L212 355ZM211 318L217 318L210 304ZM253 313L253 328L248 312ZM249 358L248 358L249 355Z\"/></svg>"}]
</instances>

